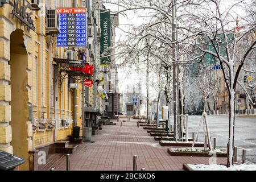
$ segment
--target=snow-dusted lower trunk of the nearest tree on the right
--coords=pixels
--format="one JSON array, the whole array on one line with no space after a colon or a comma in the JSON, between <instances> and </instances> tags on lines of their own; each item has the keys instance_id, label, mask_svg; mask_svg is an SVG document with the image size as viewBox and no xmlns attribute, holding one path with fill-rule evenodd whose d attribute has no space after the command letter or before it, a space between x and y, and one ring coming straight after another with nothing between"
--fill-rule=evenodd
<instances>
[{"instance_id":1,"label":"snow-dusted lower trunk of the nearest tree on the right","mask_svg":"<svg viewBox=\"0 0 256 182\"><path fill-rule=\"evenodd\" d=\"M233 166L233 154L234 154L234 121L235 121L235 90L230 90L229 97L229 143L228 143L228 164L227 167Z\"/></svg>"}]
</instances>

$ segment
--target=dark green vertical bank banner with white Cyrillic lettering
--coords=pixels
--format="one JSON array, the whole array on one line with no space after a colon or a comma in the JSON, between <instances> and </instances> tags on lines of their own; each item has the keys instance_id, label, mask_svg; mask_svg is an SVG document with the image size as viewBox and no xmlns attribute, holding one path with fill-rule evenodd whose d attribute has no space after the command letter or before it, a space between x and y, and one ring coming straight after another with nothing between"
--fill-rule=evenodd
<instances>
[{"instance_id":1,"label":"dark green vertical bank banner with white Cyrillic lettering","mask_svg":"<svg viewBox=\"0 0 256 182\"><path fill-rule=\"evenodd\" d=\"M111 47L111 20L110 11L101 10L101 66L109 66Z\"/></svg>"}]
</instances>

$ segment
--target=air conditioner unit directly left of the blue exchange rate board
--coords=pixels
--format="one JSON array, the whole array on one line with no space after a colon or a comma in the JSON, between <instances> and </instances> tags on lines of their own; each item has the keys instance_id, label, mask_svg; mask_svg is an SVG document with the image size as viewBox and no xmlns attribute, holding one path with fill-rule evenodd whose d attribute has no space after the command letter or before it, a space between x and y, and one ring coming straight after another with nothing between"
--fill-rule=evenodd
<instances>
[{"instance_id":1,"label":"air conditioner unit directly left of the blue exchange rate board","mask_svg":"<svg viewBox=\"0 0 256 182\"><path fill-rule=\"evenodd\" d=\"M57 10L47 10L46 32L55 35L60 33L60 18Z\"/></svg>"}]
</instances>

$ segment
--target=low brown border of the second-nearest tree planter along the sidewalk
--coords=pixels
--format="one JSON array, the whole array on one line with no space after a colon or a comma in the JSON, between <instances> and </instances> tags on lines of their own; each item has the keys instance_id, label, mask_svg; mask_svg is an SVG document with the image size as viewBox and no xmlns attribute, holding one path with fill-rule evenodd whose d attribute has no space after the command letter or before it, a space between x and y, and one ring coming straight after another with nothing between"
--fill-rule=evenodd
<instances>
[{"instance_id":1,"label":"low brown border of the second-nearest tree planter along the sidewalk","mask_svg":"<svg viewBox=\"0 0 256 182\"><path fill-rule=\"evenodd\" d=\"M168 148L168 153L171 156L196 156L196 157L211 157L212 155L209 155L208 152L176 152L172 150L172 148ZM226 158L228 157L228 154L226 153L217 153L216 154L217 158Z\"/></svg>"}]
</instances>

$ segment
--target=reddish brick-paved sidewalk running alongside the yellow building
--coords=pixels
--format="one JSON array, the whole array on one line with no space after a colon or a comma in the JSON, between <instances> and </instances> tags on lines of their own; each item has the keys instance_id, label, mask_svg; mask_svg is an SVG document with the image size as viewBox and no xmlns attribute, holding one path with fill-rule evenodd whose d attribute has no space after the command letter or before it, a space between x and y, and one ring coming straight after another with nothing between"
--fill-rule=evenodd
<instances>
[{"instance_id":1,"label":"reddish brick-paved sidewalk running alongside the yellow building","mask_svg":"<svg viewBox=\"0 0 256 182\"><path fill-rule=\"evenodd\" d=\"M114 121L116 122L116 121ZM137 120L123 122L122 127L105 126L92 137L95 143L82 143L71 155L71 170L75 171L131 171L133 156L137 155L137 168L146 170L183 170L183 163L209 163L208 157L170 156L168 147L150 137L147 130L137 127ZM56 154L57 160L42 170L65 170L65 156ZM218 158L217 163L226 164L226 158Z\"/></svg>"}]
</instances>

